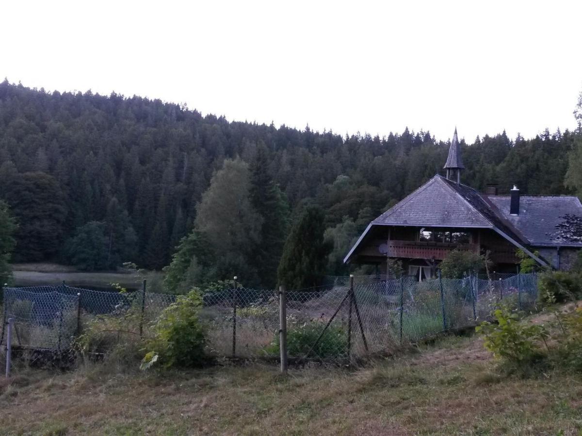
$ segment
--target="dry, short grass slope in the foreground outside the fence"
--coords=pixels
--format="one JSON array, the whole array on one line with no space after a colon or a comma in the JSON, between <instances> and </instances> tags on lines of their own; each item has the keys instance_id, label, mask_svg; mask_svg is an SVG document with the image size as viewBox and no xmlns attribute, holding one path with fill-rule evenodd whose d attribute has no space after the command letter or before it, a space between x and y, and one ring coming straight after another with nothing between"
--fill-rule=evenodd
<instances>
[{"instance_id":1,"label":"dry, short grass slope in the foreground outside the fence","mask_svg":"<svg viewBox=\"0 0 582 436\"><path fill-rule=\"evenodd\" d=\"M480 341L360 370L222 367L111 375L21 370L2 384L3 434L581 434L582 377L501 380Z\"/></svg>"}]
</instances>

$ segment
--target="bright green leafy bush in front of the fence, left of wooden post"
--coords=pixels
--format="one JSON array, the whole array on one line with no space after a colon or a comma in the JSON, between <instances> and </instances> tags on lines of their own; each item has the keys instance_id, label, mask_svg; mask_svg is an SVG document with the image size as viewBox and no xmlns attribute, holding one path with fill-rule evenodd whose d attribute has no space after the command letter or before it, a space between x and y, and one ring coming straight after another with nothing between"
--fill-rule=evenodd
<instances>
[{"instance_id":1,"label":"bright green leafy bush in front of the fence, left of wooden post","mask_svg":"<svg viewBox=\"0 0 582 436\"><path fill-rule=\"evenodd\" d=\"M141 369L162 367L197 367L207 362L206 331L198 312L202 298L197 290L179 295L152 326L153 337L147 339Z\"/></svg>"}]
</instances>

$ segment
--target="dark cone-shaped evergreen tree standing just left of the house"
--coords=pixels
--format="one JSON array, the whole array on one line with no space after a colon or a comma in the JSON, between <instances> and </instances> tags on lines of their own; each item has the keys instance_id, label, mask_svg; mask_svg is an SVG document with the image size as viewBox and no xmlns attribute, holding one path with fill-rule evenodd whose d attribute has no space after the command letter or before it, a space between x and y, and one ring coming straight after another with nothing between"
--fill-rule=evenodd
<instances>
[{"instance_id":1,"label":"dark cone-shaped evergreen tree standing just left of the house","mask_svg":"<svg viewBox=\"0 0 582 436\"><path fill-rule=\"evenodd\" d=\"M293 224L277 271L289 290L321 285L331 246L324 241L323 210L308 206Z\"/></svg>"}]
</instances>

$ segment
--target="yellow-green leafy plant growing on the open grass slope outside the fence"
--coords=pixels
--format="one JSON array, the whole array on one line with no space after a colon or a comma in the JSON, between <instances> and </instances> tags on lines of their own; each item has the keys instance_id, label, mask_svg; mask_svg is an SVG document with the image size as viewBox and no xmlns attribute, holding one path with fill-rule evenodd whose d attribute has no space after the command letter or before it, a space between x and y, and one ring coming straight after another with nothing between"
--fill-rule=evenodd
<instances>
[{"instance_id":1,"label":"yellow-green leafy plant growing on the open grass slope outside the fence","mask_svg":"<svg viewBox=\"0 0 582 436\"><path fill-rule=\"evenodd\" d=\"M548 331L544 326L523 323L517 313L506 308L496 309L493 315L496 323L483 321L480 326L475 327L475 331L485 337L485 348L496 359L525 366L543 358L540 342L545 342L548 338Z\"/></svg>"}]
</instances>

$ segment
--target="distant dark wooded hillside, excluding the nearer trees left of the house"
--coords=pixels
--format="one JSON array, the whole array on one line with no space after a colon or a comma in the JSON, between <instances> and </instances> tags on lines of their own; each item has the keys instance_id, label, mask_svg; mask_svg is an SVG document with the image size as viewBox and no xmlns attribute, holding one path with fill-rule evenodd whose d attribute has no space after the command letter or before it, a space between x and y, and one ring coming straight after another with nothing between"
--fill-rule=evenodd
<instances>
[{"instance_id":1,"label":"distant dark wooded hillside, excluding the nearer trees left of the house","mask_svg":"<svg viewBox=\"0 0 582 436\"><path fill-rule=\"evenodd\" d=\"M503 132L462 141L462 181L477 189L497 182L501 192L517 184L524 194L570 194L564 180L574 137L545 130L529 140ZM258 149L264 156L257 158ZM334 272L353 235L441 171L447 151L448 142L423 131L343 137L203 117L141 97L0 83L0 196L19 223L18 262L72 262L102 235L107 262L95 269L129 260L161 269L193 228L212 175L239 156L257 183L260 165L279 186L287 215L300 205L325 210ZM254 192L262 201L256 186Z\"/></svg>"}]
</instances>

